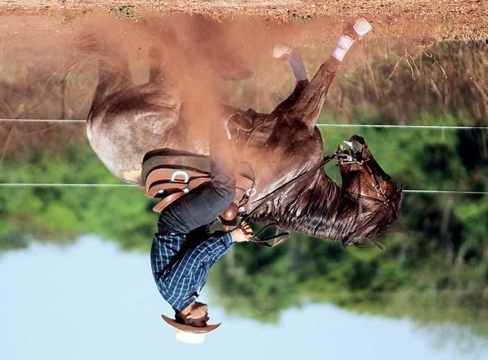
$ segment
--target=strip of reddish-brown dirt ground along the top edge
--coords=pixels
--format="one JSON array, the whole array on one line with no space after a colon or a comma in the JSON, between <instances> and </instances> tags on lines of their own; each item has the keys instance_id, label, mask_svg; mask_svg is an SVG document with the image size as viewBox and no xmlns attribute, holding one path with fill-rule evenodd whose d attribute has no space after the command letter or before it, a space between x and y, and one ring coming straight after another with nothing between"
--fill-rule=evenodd
<instances>
[{"instance_id":1,"label":"strip of reddish-brown dirt ground along the top edge","mask_svg":"<svg viewBox=\"0 0 488 360\"><path fill-rule=\"evenodd\" d=\"M102 11L117 17L190 13L223 19L259 17L265 21L310 22L318 17L347 19L358 15L373 22L376 33L419 35L452 40L488 39L488 0L0 0L0 14L64 15L74 22Z\"/></svg>"}]
</instances>

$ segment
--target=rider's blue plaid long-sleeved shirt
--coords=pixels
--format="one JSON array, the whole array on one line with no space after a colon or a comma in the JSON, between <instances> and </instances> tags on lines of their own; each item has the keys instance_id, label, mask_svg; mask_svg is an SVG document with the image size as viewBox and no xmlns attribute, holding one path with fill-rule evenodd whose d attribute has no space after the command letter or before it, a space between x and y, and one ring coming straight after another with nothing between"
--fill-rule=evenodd
<instances>
[{"instance_id":1,"label":"rider's blue plaid long-sleeved shirt","mask_svg":"<svg viewBox=\"0 0 488 360\"><path fill-rule=\"evenodd\" d=\"M175 311L194 302L211 266L234 245L230 232L206 234L209 226L190 234L154 234L151 266L163 298Z\"/></svg>"}]
</instances>

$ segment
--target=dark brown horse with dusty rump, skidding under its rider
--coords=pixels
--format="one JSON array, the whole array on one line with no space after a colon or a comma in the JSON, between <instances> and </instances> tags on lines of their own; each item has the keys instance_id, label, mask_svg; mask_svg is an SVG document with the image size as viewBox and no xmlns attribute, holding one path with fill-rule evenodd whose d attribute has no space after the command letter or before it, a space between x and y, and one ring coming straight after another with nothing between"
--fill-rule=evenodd
<instances>
[{"instance_id":1,"label":"dark brown horse with dusty rump, skidding under its rider","mask_svg":"<svg viewBox=\"0 0 488 360\"><path fill-rule=\"evenodd\" d=\"M375 236L398 218L402 190L359 136L348 140L350 150L339 147L337 152L341 187L320 166L324 149L316 121L340 64L331 56L311 81L298 82L269 114L222 105L212 115L231 118L239 157L254 167L254 222L341 240L347 246ZM184 91L163 70L155 49L149 51L149 82L143 85L131 84L127 63L100 62L88 138L101 161L124 181L139 182L143 157L153 149L206 154L208 138L190 122L199 113L191 111ZM200 116L208 117L205 113Z\"/></svg>"}]
</instances>

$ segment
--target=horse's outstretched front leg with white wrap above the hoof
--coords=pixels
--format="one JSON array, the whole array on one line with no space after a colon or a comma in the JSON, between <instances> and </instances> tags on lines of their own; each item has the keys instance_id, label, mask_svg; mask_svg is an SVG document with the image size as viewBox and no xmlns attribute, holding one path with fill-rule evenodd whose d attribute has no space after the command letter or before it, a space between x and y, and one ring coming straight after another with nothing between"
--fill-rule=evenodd
<instances>
[{"instance_id":1,"label":"horse's outstretched front leg with white wrap above the hoof","mask_svg":"<svg viewBox=\"0 0 488 360\"><path fill-rule=\"evenodd\" d=\"M339 38L336 49L332 52L330 58L323 63L310 81L306 88L301 92L300 97L296 99L284 117L288 121L298 120L304 122L312 131L318 120L318 115L322 110L325 96L329 90L330 84L337 74L339 65L348 49L357 38L365 35L371 30L371 25L364 18L358 19L354 25L347 26L343 35Z\"/></svg>"}]
</instances>

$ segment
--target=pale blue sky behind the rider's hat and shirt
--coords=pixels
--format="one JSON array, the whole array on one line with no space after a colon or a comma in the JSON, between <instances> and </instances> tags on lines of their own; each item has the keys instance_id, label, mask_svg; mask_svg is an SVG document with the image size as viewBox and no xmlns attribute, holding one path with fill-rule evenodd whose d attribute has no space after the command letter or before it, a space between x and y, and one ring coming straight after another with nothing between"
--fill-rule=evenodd
<instances>
[{"instance_id":1,"label":"pale blue sky behind the rider's hat and shirt","mask_svg":"<svg viewBox=\"0 0 488 360\"><path fill-rule=\"evenodd\" d=\"M93 237L68 247L35 244L4 254L0 261L4 356L12 360L179 357L187 347L174 342L172 331L159 317L169 306L161 301L150 272L147 254L121 252ZM212 291L202 297L219 295ZM294 307L268 325L231 316L218 306L213 316L223 322L222 327L207 336L198 354L186 354L188 359L225 359L229 354L260 359L269 352L281 359L484 359L488 354L486 339L462 327L418 327L406 318L359 315L331 305ZM253 345L235 352L243 341ZM158 345L144 345L148 343Z\"/></svg>"}]
</instances>

